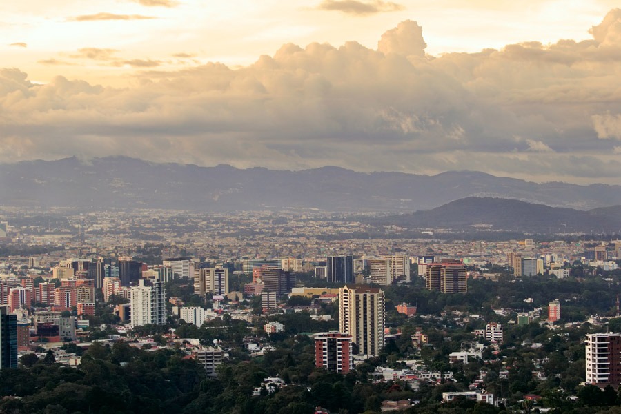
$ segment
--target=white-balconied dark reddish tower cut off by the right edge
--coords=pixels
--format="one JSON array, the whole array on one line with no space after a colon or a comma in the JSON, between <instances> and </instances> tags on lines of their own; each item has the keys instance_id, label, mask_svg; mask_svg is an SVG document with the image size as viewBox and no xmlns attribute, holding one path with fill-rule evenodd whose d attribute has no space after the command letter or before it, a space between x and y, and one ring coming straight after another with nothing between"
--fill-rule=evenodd
<instances>
[{"instance_id":1,"label":"white-balconied dark reddish tower cut off by the right edge","mask_svg":"<svg viewBox=\"0 0 621 414\"><path fill-rule=\"evenodd\" d=\"M614 388L621 384L621 334L586 335L586 382Z\"/></svg>"}]
</instances>

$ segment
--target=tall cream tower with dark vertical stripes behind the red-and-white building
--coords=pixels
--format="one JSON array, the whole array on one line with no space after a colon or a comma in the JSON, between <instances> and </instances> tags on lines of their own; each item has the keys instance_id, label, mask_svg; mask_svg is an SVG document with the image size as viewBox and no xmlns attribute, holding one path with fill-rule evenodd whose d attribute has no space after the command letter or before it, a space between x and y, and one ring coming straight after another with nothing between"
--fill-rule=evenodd
<instances>
[{"instance_id":1,"label":"tall cream tower with dark vertical stripes behind the red-and-white building","mask_svg":"<svg viewBox=\"0 0 621 414\"><path fill-rule=\"evenodd\" d=\"M351 335L358 353L380 355L384 324L383 290L369 286L339 289L339 331Z\"/></svg>"}]
</instances>

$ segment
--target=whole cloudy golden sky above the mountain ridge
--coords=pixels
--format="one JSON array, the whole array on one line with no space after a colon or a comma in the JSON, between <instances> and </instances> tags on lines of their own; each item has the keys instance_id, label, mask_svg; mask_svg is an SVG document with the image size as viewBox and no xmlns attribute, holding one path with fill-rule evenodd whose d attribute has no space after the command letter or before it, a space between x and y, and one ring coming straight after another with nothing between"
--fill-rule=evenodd
<instances>
[{"instance_id":1,"label":"whole cloudy golden sky above the mountain ridge","mask_svg":"<svg viewBox=\"0 0 621 414\"><path fill-rule=\"evenodd\" d=\"M0 162L621 184L615 3L0 2Z\"/></svg>"}]
</instances>

